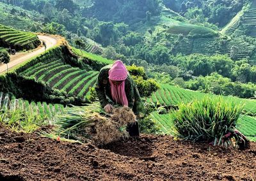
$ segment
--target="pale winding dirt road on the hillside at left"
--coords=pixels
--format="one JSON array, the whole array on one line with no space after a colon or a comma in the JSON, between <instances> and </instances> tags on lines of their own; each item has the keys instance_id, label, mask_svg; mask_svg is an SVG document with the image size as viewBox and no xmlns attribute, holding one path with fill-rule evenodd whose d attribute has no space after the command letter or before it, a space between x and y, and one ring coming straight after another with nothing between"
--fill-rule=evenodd
<instances>
[{"instance_id":1,"label":"pale winding dirt road on the hillside at left","mask_svg":"<svg viewBox=\"0 0 256 181\"><path fill-rule=\"evenodd\" d=\"M54 47L58 43L58 39L49 35L38 35L38 38L40 41L45 41L47 47L46 49ZM44 46L40 45L38 48L29 50L28 52L17 52L17 54L11 55L10 62L8 63L8 69L13 68L14 66L17 66L18 64L27 61L28 59L31 59L32 57L35 57L44 51ZM6 64L1 64L0 73L3 73L6 70Z\"/></svg>"}]
</instances>

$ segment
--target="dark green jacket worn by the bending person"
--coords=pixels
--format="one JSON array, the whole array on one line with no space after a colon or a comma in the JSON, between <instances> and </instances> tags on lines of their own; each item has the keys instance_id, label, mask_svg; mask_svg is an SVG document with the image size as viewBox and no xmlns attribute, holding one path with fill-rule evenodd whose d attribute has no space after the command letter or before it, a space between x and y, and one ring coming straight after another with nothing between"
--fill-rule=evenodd
<instances>
[{"instance_id":1,"label":"dark green jacket worn by the bending person","mask_svg":"<svg viewBox=\"0 0 256 181\"><path fill-rule=\"evenodd\" d=\"M102 108L104 108L104 106L108 104L115 105L111 96L111 88L108 80L108 71L111 67L112 64L100 69L100 73L95 87ZM125 80L125 94L128 100L128 106L132 108L132 111L136 115L140 115L140 113L145 113L145 109L140 98L140 93L137 89L136 83L129 75L129 73Z\"/></svg>"}]
</instances>

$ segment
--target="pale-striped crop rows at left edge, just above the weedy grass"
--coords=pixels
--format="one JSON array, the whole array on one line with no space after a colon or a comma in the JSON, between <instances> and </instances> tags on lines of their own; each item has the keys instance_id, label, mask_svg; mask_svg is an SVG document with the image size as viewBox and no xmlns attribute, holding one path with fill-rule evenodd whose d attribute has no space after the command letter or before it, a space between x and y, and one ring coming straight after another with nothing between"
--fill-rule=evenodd
<instances>
[{"instance_id":1,"label":"pale-striped crop rows at left edge, just above the weedy grass","mask_svg":"<svg viewBox=\"0 0 256 181\"><path fill-rule=\"evenodd\" d=\"M45 102L29 103L29 101L16 99L13 96L11 97L10 94L0 92L0 110L15 110L17 108L25 110L32 115L40 115L44 118L45 124L52 124L56 115L61 115L66 111L63 105L52 105Z\"/></svg>"}]
</instances>

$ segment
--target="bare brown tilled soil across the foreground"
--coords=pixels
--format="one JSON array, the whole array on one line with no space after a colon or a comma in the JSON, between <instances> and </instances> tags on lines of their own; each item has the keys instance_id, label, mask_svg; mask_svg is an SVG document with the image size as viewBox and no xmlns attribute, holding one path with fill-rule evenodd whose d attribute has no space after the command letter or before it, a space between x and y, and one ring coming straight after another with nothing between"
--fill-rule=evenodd
<instances>
[{"instance_id":1,"label":"bare brown tilled soil across the foreground","mask_svg":"<svg viewBox=\"0 0 256 181\"><path fill-rule=\"evenodd\" d=\"M143 135L103 148L12 133L0 125L0 180L256 180L248 150Z\"/></svg>"}]
</instances>

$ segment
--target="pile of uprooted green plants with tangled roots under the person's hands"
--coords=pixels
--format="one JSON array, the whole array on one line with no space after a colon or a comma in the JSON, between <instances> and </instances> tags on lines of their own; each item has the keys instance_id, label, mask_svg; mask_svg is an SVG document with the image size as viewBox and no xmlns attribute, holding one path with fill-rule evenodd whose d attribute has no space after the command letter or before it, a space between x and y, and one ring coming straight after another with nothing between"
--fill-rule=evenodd
<instances>
[{"instance_id":1,"label":"pile of uprooted green plants with tangled roots under the person's hands","mask_svg":"<svg viewBox=\"0 0 256 181\"><path fill-rule=\"evenodd\" d=\"M115 108L106 113L98 103L69 108L56 122L52 138L65 138L82 143L92 141L95 145L106 145L127 138L127 124L136 122L136 116L128 107ZM59 136L59 137L58 137Z\"/></svg>"}]
</instances>

